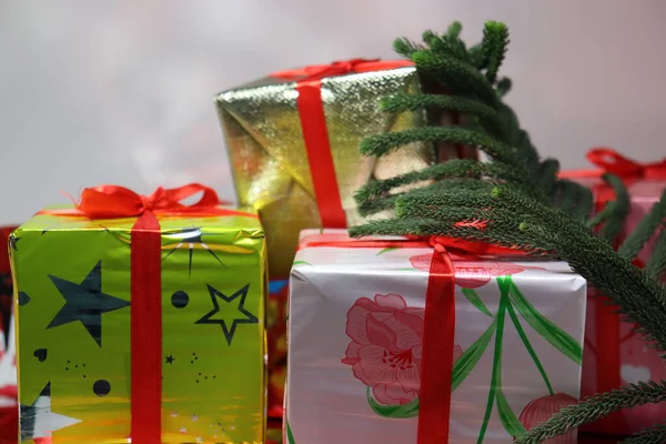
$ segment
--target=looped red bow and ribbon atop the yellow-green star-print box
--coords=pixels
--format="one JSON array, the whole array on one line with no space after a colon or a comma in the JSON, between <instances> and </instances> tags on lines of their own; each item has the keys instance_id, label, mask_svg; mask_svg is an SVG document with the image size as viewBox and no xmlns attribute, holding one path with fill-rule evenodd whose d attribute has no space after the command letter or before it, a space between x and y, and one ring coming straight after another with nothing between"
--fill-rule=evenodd
<instances>
[{"instance_id":1,"label":"looped red bow and ribbon atop the yellow-green star-print box","mask_svg":"<svg viewBox=\"0 0 666 444\"><path fill-rule=\"evenodd\" d=\"M203 192L201 199L193 204L181 201ZM256 214L221 209L225 204L218 198L212 188L190 183L188 185L165 190L158 188L151 195L141 195L119 185L99 185L87 188L81 192L75 209L43 210L38 214L84 215L89 219L135 218L145 212L164 215L241 215L256 218Z\"/></svg>"}]
</instances>

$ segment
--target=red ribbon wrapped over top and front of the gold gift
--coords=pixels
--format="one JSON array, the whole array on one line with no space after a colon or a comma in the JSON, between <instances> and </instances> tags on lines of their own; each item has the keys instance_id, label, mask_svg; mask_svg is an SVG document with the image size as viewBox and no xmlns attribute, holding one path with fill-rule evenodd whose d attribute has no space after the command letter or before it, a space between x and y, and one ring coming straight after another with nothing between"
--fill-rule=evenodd
<instances>
[{"instance_id":1,"label":"red ribbon wrapped over top and front of the gold gift","mask_svg":"<svg viewBox=\"0 0 666 444\"><path fill-rule=\"evenodd\" d=\"M314 198L319 208L322 226L346 228L346 214L342 206L337 175L331 152L331 141L326 128L324 103L322 101L322 79L350 73L381 71L412 67L406 60L380 61L352 59L330 64L274 72L271 75L296 81L296 107L301 119L303 140L307 152L310 175L314 188Z\"/></svg>"}]
</instances>

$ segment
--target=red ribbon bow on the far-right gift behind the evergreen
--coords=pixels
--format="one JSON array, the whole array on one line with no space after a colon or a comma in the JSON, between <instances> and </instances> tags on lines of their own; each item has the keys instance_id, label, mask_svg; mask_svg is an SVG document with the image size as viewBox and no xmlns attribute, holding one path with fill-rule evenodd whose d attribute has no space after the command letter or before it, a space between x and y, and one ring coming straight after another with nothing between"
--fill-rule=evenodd
<instances>
[{"instance_id":1,"label":"red ribbon bow on the far-right gift behind the evergreen","mask_svg":"<svg viewBox=\"0 0 666 444\"><path fill-rule=\"evenodd\" d=\"M666 159L640 163L625 158L609 148L594 148L587 152L587 160L598 170L566 171L561 174L566 179L599 178L604 173L613 173L623 180L666 179Z\"/></svg>"}]
</instances>

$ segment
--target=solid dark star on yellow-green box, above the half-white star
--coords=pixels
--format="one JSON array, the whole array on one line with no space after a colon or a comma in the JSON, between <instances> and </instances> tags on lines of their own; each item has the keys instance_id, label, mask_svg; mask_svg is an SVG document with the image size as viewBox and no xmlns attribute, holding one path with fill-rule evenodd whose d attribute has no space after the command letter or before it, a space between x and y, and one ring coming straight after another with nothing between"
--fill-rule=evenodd
<instances>
[{"instance_id":1,"label":"solid dark star on yellow-green box, above the half-white star","mask_svg":"<svg viewBox=\"0 0 666 444\"><path fill-rule=\"evenodd\" d=\"M52 275L49 278L65 303L47 329L79 321L101 347L102 313L130 305L129 301L102 293L102 261L94 265L80 284Z\"/></svg>"}]
</instances>

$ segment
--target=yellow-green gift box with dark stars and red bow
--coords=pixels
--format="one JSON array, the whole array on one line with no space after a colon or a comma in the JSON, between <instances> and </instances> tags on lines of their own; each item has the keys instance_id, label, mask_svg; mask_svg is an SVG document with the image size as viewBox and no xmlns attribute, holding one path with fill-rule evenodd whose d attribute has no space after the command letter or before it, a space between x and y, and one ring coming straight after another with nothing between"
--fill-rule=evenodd
<instances>
[{"instance_id":1,"label":"yellow-green gift box with dark stars and red bow","mask_svg":"<svg viewBox=\"0 0 666 444\"><path fill-rule=\"evenodd\" d=\"M22 442L264 442L264 234L219 203L99 186L12 234Z\"/></svg>"}]
</instances>

